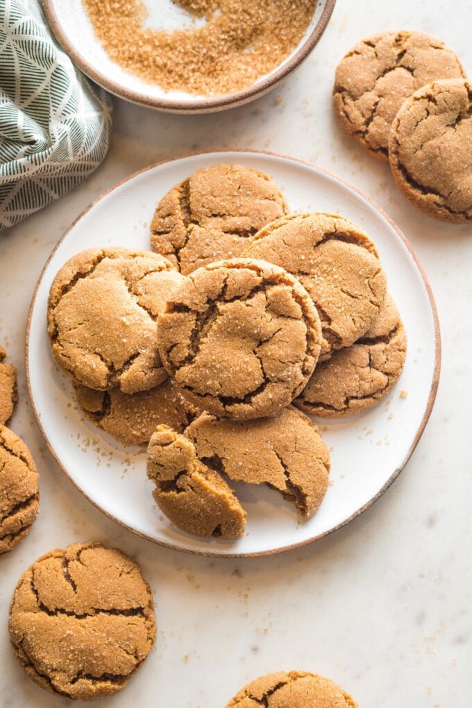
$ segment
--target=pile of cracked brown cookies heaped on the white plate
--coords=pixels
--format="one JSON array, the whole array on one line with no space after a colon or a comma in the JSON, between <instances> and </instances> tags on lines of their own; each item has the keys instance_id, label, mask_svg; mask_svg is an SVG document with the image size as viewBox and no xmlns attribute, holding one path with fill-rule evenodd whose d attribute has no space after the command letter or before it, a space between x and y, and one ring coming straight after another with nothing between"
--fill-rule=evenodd
<instances>
[{"instance_id":1,"label":"pile of cracked brown cookies heaped on the white plate","mask_svg":"<svg viewBox=\"0 0 472 708\"><path fill-rule=\"evenodd\" d=\"M80 409L149 443L154 498L192 534L243 534L231 481L311 517L330 455L306 413L363 411L403 368L372 240L338 215L288 212L258 171L201 169L159 202L152 252L90 249L52 283L52 351Z\"/></svg>"}]
</instances>

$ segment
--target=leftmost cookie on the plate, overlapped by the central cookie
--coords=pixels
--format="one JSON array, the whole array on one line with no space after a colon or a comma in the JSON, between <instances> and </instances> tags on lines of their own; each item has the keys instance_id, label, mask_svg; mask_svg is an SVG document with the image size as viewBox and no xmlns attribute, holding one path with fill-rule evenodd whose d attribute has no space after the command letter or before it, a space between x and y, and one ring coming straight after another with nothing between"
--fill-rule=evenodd
<instances>
[{"instance_id":1,"label":"leftmost cookie on the plate, overlapped by the central cookie","mask_svg":"<svg viewBox=\"0 0 472 708\"><path fill-rule=\"evenodd\" d=\"M183 277L156 253L89 249L52 282L47 326L59 365L76 381L131 394L167 377L156 319Z\"/></svg>"}]
</instances>

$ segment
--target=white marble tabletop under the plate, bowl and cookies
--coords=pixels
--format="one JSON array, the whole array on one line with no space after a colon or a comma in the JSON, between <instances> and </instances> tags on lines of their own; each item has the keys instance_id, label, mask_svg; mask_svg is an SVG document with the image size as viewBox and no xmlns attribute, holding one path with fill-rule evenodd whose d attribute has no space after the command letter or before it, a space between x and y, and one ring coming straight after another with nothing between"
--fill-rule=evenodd
<instances>
[{"instance_id":1,"label":"white marble tabletop under the plate, bowl and cookies","mask_svg":"<svg viewBox=\"0 0 472 708\"><path fill-rule=\"evenodd\" d=\"M25 677L8 645L6 621L11 593L28 564L52 547L83 539L116 545L139 561L154 589L159 622L156 649L141 672L103 706L224 708L257 675L304 668L337 680L362 708L470 708L472 227L435 222L408 205L388 167L340 131L330 90L343 53L384 28L438 35L472 75L471 15L471 0L338 0L313 55L256 103L176 117L115 101L113 143L103 166L73 193L0 236L0 342L20 379L11 427L37 459L42 494L29 537L0 559L1 708L67 704ZM300 156L374 198L420 256L442 325L436 406L396 484L335 535L301 551L244 561L166 551L91 506L45 450L23 365L30 297L71 220L103 190L152 161L221 147Z\"/></svg>"}]
</instances>

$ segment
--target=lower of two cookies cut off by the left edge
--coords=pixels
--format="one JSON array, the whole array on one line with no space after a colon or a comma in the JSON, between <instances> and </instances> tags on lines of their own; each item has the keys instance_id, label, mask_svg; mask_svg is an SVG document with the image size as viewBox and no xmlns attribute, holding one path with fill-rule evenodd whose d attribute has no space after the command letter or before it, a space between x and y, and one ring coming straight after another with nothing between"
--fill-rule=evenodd
<instances>
[{"instance_id":1,"label":"lower of two cookies cut off by the left edge","mask_svg":"<svg viewBox=\"0 0 472 708\"><path fill-rule=\"evenodd\" d=\"M38 470L18 435L0 425L0 554L28 534L38 516Z\"/></svg>"}]
</instances>

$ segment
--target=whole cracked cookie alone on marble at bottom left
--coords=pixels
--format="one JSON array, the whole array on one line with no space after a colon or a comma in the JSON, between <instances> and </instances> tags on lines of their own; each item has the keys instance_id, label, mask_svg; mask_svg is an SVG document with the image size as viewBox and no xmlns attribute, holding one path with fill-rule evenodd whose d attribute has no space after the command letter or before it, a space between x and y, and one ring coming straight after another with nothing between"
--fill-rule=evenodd
<instances>
[{"instance_id":1,"label":"whole cracked cookie alone on marble at bottom left","mask_svg":"<svg viewBox=\"0 0 472 708\"><path fill-rule=\"evenodd\" d=\"M81 700L122 690L156 639L151 589L139 566L93 542L35 561L16 586L8 627L33 681Z\"/></svg>"}]
</instances>

